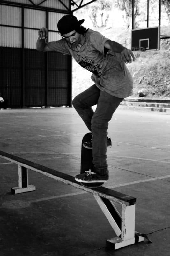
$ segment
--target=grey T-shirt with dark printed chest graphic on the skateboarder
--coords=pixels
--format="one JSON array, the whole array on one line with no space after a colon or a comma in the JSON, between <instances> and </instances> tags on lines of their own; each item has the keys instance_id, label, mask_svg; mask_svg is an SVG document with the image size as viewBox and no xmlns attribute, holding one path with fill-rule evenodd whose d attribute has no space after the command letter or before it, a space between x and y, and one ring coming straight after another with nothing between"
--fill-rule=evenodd
<instances>
[{"instance_id":1,"label":"grey T-shirt with dark printed chest graphic on the skateboarder","mask_svg":"<svg viewBox=\"0 0 170 256\"><path fill-rule=\"evenodd\" d=\"M84 36L80 50L64 38L47 45L51 51L71 54L79 65L92 72L91 79L101 91L119 98L132 95L133 79L121 54L112 51L105 54L104 44L109 39L92 29Z\"/></svg>"}]
</instances>

